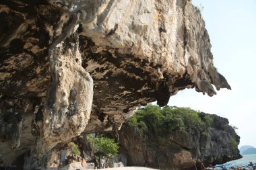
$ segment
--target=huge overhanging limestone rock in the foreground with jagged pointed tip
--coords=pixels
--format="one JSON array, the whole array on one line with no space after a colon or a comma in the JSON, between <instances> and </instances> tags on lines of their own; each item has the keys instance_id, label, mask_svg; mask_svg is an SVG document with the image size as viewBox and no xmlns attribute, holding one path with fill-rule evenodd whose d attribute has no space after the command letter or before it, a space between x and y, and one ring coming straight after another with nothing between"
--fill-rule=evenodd
<instances>
[{"instance_id":1,"label":"huge overhanging limestone rock in the foreground with jagged pointed tip","mask_svg":"<svg viewBox=\"0 0 256 170\"><path fill-rule=\"evenodd\" d=\"M82 132L117 131L137 106L182 89L230 89L189 0L9 0L0 23L5 164L30 146L40 155Z\"/></svg>"}]
</instances>

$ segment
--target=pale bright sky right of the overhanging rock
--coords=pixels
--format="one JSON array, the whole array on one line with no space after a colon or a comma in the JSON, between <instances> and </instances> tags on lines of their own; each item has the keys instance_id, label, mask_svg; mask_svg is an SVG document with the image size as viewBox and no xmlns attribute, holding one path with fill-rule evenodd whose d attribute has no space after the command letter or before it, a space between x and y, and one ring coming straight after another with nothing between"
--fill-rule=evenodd
<instances>
[{"instance_id":1,"label":"pale bright sky right of the overhanging rock","mask_svg":"<svg viewBox=\"0 0 256 170\"><path fill-rule=\"evenodd\" d=\"M238 128L239 146L256 146L256 0L193 0L202 11L210 35L214 65L232 91L209 97L185 89L168 105L189 107L228 118Z\"/></svg>"}]
</instances>

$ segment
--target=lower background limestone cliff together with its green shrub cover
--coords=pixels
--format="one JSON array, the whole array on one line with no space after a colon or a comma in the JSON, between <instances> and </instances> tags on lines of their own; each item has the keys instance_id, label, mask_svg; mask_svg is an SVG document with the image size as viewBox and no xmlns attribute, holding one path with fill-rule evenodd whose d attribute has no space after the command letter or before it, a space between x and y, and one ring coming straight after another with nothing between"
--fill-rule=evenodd
<instances>
[{"instance_id":1,"label":"lower background limestone cliff together with its green shrub cover","mask_svg":"<svg viewBox=\"0 0 256 170\"><path fill-rule=\"evenodd\" d=\"M240 137L226 118L182 108L165 111L163 118L168 121L159 116L150 120L149 114L135 116L137 120L129 120L119 130L120 155L125 155L129 166L201 169L201 163L210 167L241 158ZM197 122L186 122L190 118Z\"/></svg>"}]
</instances>

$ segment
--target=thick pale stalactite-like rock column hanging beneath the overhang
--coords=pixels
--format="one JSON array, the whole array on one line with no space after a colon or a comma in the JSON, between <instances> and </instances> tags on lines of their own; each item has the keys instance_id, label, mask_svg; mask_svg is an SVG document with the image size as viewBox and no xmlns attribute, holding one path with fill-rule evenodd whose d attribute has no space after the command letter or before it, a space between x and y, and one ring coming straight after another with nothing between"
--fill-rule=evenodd
<instances>
[{"instance_id":1,"label":"thick pale stalactite-like rock column hanging beneath the overhang","mask_svg":"<svg viewBox=\"0 0 256 170\"><path fill-rule=\"evenodd\" d=\"M55 146L84 132L92 110L93 81L82 67L78 37L51 53L53 82L46 95L42 137ZM67 50L65 50L67 49Z\"/></svg>"}]
</instances>

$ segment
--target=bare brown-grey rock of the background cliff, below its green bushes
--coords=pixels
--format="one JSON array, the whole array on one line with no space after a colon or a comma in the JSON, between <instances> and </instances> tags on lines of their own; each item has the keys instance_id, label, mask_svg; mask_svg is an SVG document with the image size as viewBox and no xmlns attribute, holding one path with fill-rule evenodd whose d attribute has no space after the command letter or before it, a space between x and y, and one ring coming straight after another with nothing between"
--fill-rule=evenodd
<instances>
[{"instance_id":1,"label":"bare brown-grey rock of the background cliff, below its green bushes","mask_svg":"<svg viewBox=\"0 0 256 170\"><path fill-rule=\"evenodd\" d=\"M126 155L129 166L195 169L195 165L200 168L201 163L209 167L241 158L236 145L240 137L226 118L218 116L207 134L194 128L192 131L170 130L163 137L154 132L139 134L134 127L123 124L119 138L121 154Z\"/></svg>"}]
</instances>

